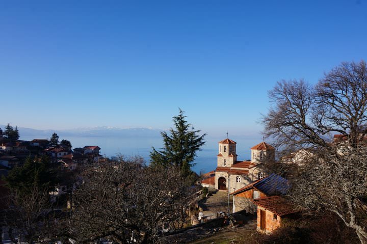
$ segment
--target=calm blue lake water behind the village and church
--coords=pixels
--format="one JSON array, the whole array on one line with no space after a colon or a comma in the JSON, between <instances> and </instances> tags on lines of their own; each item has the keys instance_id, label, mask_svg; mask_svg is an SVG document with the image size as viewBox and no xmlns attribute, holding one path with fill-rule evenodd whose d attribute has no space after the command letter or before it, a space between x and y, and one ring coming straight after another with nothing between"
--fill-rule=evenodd
<instances>
[{"instance_id":1,"label":"calm blue lake water behind the village and church","mask_svg":"<svg viewBox=\"0 0 367 244\"><path fill-rule=\"evenodd\" d=\"M33 140L37 137L21 137L20 140ZM163 146L162 138L121 138L121 137L60 137L71 142L73 148L84 147L86 145L99 146L101 154L107 157L115 156L118 153L126 156L142 156L149 162L149 152L151 147L159 149ZM223 138L224 139L224 138ZM258 138L231 138L237 142L237 154L239 160L250 159L250 148L261 142ZM218 142L222 139L206 139L202 150L197 153L196 165L193 170L196 173L209 172L217 167Z\"/></svg>"}]
</instances>

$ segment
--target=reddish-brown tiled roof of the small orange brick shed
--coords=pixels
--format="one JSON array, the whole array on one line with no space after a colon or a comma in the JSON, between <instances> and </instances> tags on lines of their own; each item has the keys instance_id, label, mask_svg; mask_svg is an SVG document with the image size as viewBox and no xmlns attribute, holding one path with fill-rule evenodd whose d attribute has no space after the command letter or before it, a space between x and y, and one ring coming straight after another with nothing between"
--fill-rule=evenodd
<instances>
[{"instance_id":1,"label":"reddish-brown tiled roof of the small orange brick shed","mask_svg":"<svg viewBox=\"0 0 367 244\"><path fill-rule=\"evenodd\" d=\"M284 197L273 196L252 200L256 205L263 207L279 216L297 212L298 210Z\"/></svg>"}]
</instances>

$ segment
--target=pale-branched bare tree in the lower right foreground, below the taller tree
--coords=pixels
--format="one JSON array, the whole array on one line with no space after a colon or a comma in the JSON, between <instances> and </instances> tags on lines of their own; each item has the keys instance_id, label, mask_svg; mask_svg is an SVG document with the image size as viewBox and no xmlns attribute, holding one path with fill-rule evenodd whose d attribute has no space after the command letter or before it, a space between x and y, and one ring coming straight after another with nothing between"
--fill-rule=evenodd
<instances>
[{"instance_id":1,"label":"pale-branched bare tree in the lower right foreground, below the taller tree","mask_svg":"<svg viewBox=\"0 0 367 244\"><path fill-rule=\"evenodd\" d=\"M332 211L367 243L367 147L328 148L292 177L291 196L310 210Z\"/></svg>"}]
</instances>

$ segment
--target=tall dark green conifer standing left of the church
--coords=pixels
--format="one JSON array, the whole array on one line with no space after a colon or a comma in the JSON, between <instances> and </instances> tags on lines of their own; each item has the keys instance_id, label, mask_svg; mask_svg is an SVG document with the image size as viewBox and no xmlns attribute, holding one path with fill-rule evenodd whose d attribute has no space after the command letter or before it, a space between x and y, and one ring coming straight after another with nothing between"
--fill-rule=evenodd
<instances>
[{"instance_id":1,"label":"tall dark green conifer standing left of the church","mask_svg":"<svg viewBox=\"0 0 367 244\"><path fill-rule=\"evenodd\" d=\"M178 116L173 117L175 129L171 128L168 134L162 131L164 147L156 150L154 147L150 152L151 165L154 166L174 166L181 170L184 176L192 174L191 167L196 152L201 150L205 144L205 134L198 135L200 130L194 130L191 124L185 120L183 111L179 110Z\"/></svg>"}]
</instances>

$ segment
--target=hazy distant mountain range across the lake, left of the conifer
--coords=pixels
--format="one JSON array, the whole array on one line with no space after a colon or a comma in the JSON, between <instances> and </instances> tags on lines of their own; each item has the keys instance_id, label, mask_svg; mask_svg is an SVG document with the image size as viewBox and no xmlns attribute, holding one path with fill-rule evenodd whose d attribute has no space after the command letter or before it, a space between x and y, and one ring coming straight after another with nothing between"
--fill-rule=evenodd
<instances>
[{"instance_id":1,"label":"hazy distant mountain range across the lake, left of the conifer","mask_svg":"<svg viewBox=\"0 0 367 244\"><path fill-rule=\"evenodd\" d=\"M4 130L5 125L0 125ZM18 127L20 139L34 137L37 139L50 138L54 132L58 133L60 137L124 137L124 138L159 138L161 131L159 129L151 128L129 128L122 129L117 127L101 126L92 128L75 128L68 130L41 130Z\"/></svg>"}]
</instances>

